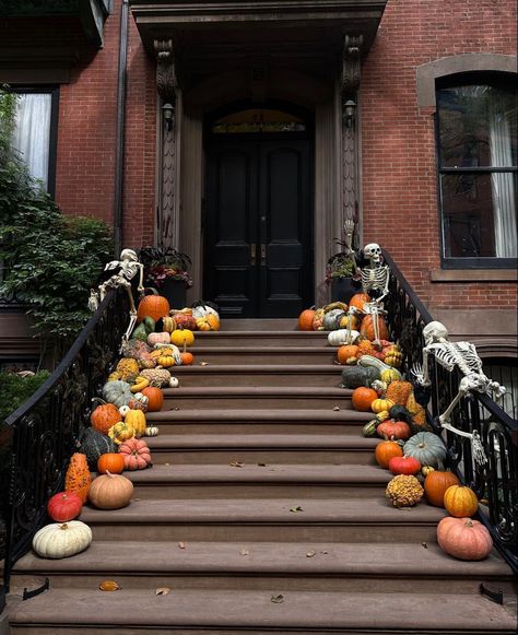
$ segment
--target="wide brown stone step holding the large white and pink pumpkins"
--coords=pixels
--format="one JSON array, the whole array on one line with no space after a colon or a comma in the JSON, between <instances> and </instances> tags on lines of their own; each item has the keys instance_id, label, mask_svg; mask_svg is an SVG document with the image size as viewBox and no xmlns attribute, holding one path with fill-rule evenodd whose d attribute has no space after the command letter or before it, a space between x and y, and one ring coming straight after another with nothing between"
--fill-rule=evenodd
<instances>
[{"instance_id":1,"label":"wide brown stone step holding the large white and pink pumpkins","mask_svg":"<svg viewBox=\"0 0 518 635\"><path fill-rule=\"evenodd\" d=\"M115 579L123 589L167 586L173 589L342 592L478 592L482 581L509 592L511 575L493 553L482 563L445 558L437 544L333 542L150 542L145 558L131 557L140 540L95 541L76 557L48 561L33 553L16 565L13 587L34 588L49 577L50 587L95 589ZM390 553L391 560L386 557ZM426 571L424 572L424 567ZM419 587L415 583L419 581Z\"/></svg>"}]
</instances>

